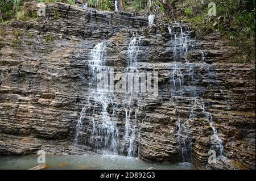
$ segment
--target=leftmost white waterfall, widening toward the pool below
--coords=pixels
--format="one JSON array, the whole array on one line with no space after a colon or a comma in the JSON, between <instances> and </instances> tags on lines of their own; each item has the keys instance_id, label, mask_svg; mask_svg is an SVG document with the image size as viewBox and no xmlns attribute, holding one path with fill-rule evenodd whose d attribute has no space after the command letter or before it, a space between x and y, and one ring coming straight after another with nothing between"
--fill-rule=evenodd
<instances>
[{"instance_id":1,"label":"leftmost white waterfall, widening toward the pool below","mask_svg":"<svg viewBox=\"0 0 256 181\"><path fill-rule=\"evenodd\" d=\"M108 154L116 154L119 133L113 118L115 117L114 95L105 91L111 90L112 87L98 87L100 81L98 74L110 73L110 68L105 66L106 44L106 41L99 43L90 51L91 92L77 122L75 144L85 144L93 149L103 149ZM111 108L113 111L110 114L108 109ZM83 124L88 126L84 128Z\"/></svg>"}]
</instances>

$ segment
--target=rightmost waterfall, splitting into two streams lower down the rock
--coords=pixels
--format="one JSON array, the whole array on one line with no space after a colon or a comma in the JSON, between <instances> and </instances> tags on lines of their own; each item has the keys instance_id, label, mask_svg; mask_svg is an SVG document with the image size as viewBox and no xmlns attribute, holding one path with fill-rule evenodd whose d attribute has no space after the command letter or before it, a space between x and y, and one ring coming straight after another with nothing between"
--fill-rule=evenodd
<instances>
[{"instance_id":1,"label":"rightmost waterfall, splitting into two streams lower down the rock","mask_svg":"<svg viewBox=\"0 0 256 181\"><path fill-rule=\"evenodd\" d=\"M172 51L173 62L170 63L172 69L170 73L170 92L171 99L174 101L189 100L189 114L187 118L181 119L179 110L177 112L177 141L180 146L180 155L182 162L192 161L192 137L191 137L191 120L199 118L200 113L204 115L204 119L208 120L213 135L211 136L212 146L210 149L217 150L218 155L224 154L224 146L218 137L217 129L213 126L213 117L204 109L203 94L200 88L197 88L197 78L194 73L196 64L188 61L188 52L193 48L193 41L189 37L188 29L182 27L179 23L171 24L168 27L171 35L170 46ZM203 62L205 61L204 53L201 52ZM205 63L206 64L206 63ZM209 70L209 65L207 64ZM214 72L209 70L209 77L214 77ZM216 81L217 82L217 81ZM199 91L197 91L199 89ZM201 101L199 101L201 100Z\"/></svg>"}]
</instances>

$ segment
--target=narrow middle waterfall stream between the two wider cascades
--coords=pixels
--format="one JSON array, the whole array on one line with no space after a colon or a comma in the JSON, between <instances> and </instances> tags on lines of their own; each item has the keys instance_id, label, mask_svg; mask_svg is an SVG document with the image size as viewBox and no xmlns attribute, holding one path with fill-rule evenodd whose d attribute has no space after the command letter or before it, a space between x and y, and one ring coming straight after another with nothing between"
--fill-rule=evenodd
<instances>
[{"instance_id":1,"label":"narrow middle waterfall stream between the two wider cascades","mask_svg":"<svg viewBox=\"0 0 256 181\"><path fill-rule=\"evenodd\" d=\"M137 40L138 39L138 40ZM132 37L128 47L127 57L129 59L129 65L126 69L126 77L129 79L129 75L136 76L139 73L139 69L137 67L137 56L139 53L139 47L141 45L140 38L135 36ZM133 82L133 79L130 79ZM129 84L128 84L129 86ZM127 156L131 157L134 155L135 151L135 128L137 127L137 112L139 110L139 98L133 92L133 84L130 84L131 87L127 87L130 90L130 95L127 96L126 99L123 100L123 107L125 108L125 137L124 142L128 144L127 146L123 146L122 151L127 147ZM137 105L134 109L134 104ZM134 117L133 117L134 116Z\"/></svg>"}]
</instances>

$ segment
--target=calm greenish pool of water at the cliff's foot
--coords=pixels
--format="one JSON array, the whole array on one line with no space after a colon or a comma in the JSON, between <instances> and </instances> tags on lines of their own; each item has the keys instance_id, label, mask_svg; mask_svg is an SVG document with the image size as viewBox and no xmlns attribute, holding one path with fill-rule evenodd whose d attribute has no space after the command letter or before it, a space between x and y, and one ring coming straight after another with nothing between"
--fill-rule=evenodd
<instances>
[{"instance_id":1,"label":"calm greenish pool of water at the cliff's foot","mask_svg":"<svg viewBox=\"0 0 256 181\"><path fill-rule=\"evenodd\" d=\"M31 169L39 165L38 155L0 156L0 169ZM154 163L144 162L134 157L120 155L46 155L48 169L135 169L144 170L154 167L156 170L196 169L190 163Z\"/></svg>"}]
</instances>

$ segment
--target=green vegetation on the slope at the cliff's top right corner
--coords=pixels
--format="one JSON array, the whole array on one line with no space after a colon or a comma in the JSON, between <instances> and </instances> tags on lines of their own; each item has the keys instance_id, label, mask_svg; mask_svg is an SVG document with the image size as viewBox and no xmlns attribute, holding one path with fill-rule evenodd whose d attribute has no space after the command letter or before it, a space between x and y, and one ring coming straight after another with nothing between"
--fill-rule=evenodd
<instances>
[{"instance_id":1,"label":"green vegetation on the slope at the cliff's top right corner","mask_svg":"<svg viewBox=\"0 0 256 181\"><path fill-rule=\"evenodd\" d=\"M255 0L216 1L216 16L208 14L210 2L180 1L176 8L184 15L175 18L191 23L197 35L220 32L229 45L242 49L247 61L255 61Z\"/></svg>"}]
</instances>

